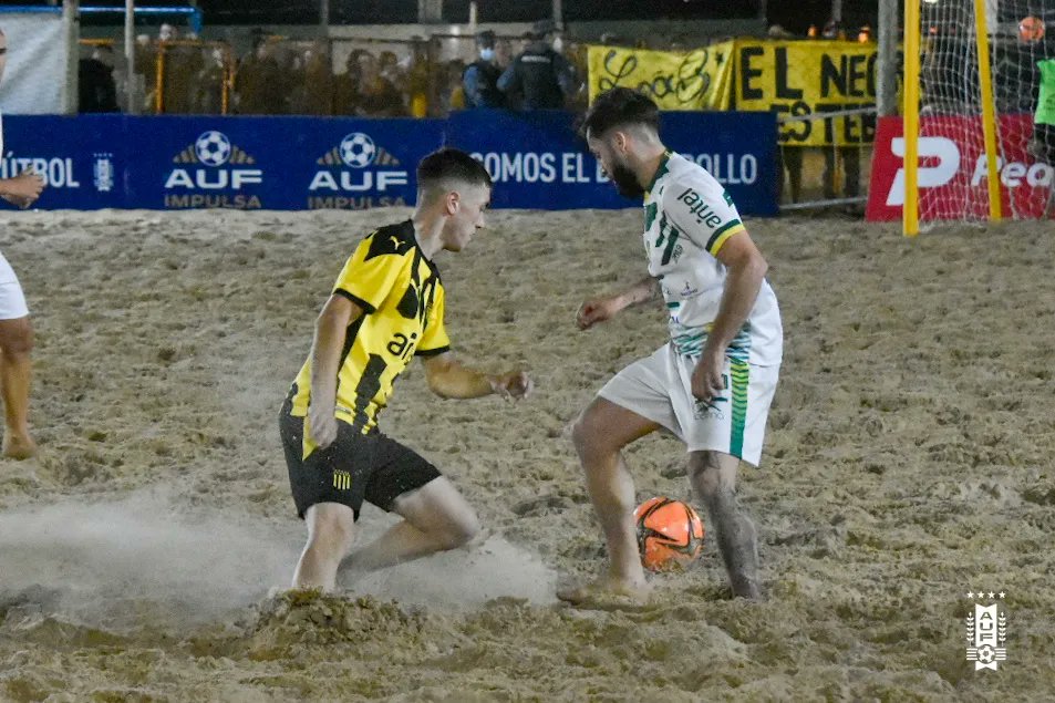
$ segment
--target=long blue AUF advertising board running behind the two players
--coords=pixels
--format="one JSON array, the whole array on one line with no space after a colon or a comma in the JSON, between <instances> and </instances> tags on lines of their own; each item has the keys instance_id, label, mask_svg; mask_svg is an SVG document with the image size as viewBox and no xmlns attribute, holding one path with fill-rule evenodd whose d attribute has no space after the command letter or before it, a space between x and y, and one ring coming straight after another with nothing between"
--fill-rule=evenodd
<instances>
[{"instance_id":1,"label":"long blue AUF advertising board running behind the two players","mask_svg":"<svg viewBox=\"0 0 1055 703\"><path fill-rule=\"evenodd\" d=\"M366 209L413 204L414 169L447 144L495 179L494 207L622 208L559 111L466 111L447 120L80 115L4 117L0 177L32 167L37 207ZM728 188L741 213L775 215L770 113L664 113L664 141Z\"/></svg>"}]
</instances>

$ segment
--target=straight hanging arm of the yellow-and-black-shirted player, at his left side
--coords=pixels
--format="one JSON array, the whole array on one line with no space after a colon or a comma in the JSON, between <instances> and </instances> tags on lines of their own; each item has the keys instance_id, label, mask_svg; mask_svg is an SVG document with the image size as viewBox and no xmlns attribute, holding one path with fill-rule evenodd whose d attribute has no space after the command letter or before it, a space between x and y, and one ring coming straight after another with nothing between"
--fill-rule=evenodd
<instances>
[{"instance_id":1,"label":"straight hanging arm of the yellow-and-black-shirted player, at his left side","mask_svg":"<svg viewBox=\"0 0 1055 703\"><path fill-rule=\"evenodd\" d=\"M320 447L337 440L337 375L348 328L363 316L364 310L344 296L332 294L316 320L316 335L311 342L311 403L308 425L311 438Z\"/></svg>"}]
</instances>

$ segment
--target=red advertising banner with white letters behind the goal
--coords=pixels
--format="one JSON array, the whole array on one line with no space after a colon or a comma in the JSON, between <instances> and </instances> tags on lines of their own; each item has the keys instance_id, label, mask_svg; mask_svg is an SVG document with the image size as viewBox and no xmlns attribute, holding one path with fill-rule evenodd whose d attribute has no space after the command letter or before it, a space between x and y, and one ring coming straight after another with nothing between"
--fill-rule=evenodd
<instances>
[{"instance_id":1,"label":"red advertising banner with white letters behind the goal","mask_svg":"<svg viewBox=\"0 0 1055 703\"><path fill-rule=\"evenodd\" d=\"M1003 215L1044 217L1055 168L1026 153L1033 116L1001 115L1003 158L997 159ZM904 204L904 138L901 117L880 117L876 128L872 177L867 218L901 219ZM920 220L985 219L989 217L989 168L982 142L981 117L920 118Z\"/></svg>"}]
</instances>

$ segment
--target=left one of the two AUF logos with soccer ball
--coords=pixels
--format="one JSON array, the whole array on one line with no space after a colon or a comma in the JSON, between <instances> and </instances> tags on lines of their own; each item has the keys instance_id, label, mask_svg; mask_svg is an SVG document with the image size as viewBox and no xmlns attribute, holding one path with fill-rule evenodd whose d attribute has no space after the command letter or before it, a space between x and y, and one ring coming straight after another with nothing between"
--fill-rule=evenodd
<instances>
[{"instance_id":1,"label":"left one of the two AUF logos with soccer ball","mask_svg":"<svg viewBox=\"0 0 1055 703\"><path fill-rule=\"evenodd\" d=\"M239 189L244 185L262 183L263 172L259 168L221 168L225 165L252 166L256 159L231 144L226 134L215 130L203 132L194 144L188 145L173 158L173 163L188 167L174 168L165 182L166 188L218 190L230 187ZM190 165L210 168L189 168Z\"/></svg>"}]
</instances>

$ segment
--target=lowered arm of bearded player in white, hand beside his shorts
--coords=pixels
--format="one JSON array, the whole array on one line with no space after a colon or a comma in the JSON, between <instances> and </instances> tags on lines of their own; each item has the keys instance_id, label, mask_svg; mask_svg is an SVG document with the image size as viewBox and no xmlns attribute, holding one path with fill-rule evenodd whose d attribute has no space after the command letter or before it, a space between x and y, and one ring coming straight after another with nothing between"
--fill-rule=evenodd
<instances>
[{"instance_id":1,"label":"lowered arm of bearded player in white, hand beside his shorts","mask_svg":"<svg viewBox=\"0 0 1055 703\"><path fill-rule=\"evenodd\" d=\"M725 389L725 351L747 321L769 268L746 229L726 239L714 256L727 272L718 314L692 374L692 394L704 402Z\"/></svg>"}]
</instances>

